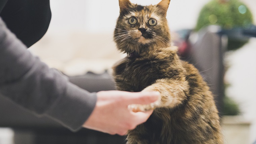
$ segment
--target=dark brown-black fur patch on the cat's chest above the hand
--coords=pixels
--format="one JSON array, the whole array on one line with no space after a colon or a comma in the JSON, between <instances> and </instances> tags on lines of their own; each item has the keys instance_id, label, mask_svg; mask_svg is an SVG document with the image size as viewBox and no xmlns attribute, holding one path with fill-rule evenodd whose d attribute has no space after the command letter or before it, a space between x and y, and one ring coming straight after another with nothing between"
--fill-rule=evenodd
<instances>
[{"instance_id":1,"label":"dark brown-black fur patch on the cat's chest above the hand","mask_svg":"<svg viewBox=\"0 0 256 144\"><path fill-rule=\"evenodd\" d=\"M152 59L124 58L115 67L115 80L119 90L138 92L159 78L158 66Z\"/></svg>"}]
</instances>

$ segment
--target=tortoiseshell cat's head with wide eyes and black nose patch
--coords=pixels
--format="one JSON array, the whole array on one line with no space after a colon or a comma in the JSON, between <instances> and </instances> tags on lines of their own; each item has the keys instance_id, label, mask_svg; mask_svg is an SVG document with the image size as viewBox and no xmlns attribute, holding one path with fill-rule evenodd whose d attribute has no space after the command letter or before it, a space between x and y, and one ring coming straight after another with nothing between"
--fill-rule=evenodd
<instances>
[{"instance_id":1,"label":"tortoiseshell cat's head with wide eyes and black nose patch","mask_svg":"<svg viewBox=\"0 0 256 144\"><path fill-rule=\"evenodd\" d=\"M152 46L170 46L170 32L166 12L170 0L157 5L141 6L129 0L119 0L120 15L114 32L114 41L125 53L139 53Z\"/></svg>"}]
</instances>

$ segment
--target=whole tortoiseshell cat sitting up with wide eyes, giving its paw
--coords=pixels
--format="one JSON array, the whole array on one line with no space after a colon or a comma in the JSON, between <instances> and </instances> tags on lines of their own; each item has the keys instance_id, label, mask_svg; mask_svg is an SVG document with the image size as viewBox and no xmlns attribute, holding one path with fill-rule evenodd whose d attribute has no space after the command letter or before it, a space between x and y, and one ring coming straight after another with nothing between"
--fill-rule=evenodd
<instances>
[{"instance_id":1,"label":"whole tortoiseshell cat sitting up with wide eyes, giving its paw","mask_svg":"<svg viewBox=\"0 0 256 144\"><path fill-rule=\"evenodd\" d=\"M154 112L147 122L127 133L127 144L222 144L218 111L209 87L170 44L169 3L162 0L141 6L119 0L114 37L117 48L128 56L113 67L117 89L161 94L155 103L130 105L135 112Z\"/></svg>"}]
</instances>

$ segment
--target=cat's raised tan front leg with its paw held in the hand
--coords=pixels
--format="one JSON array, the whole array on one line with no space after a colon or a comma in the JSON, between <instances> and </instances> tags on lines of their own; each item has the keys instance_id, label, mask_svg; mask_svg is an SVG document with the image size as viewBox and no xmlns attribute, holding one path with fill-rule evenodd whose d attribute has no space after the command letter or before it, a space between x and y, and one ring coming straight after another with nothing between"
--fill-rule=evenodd
<instances>
[{"instance_id":1,"label":"cat's raised tan front leg with its paw held in the hand","mask_svg":"<svg viewBox=\"0 0 256 144\"><path fill-rule=\"evenodd\" d=\"M158 79L156 82L142 91L158 91L160 98L156 102L147 105L131 104L128 106L134 112L154 110L158 107L175 107L186 99L188 82L185 78L179 79Z\"/></svg>"}]
</instances>

